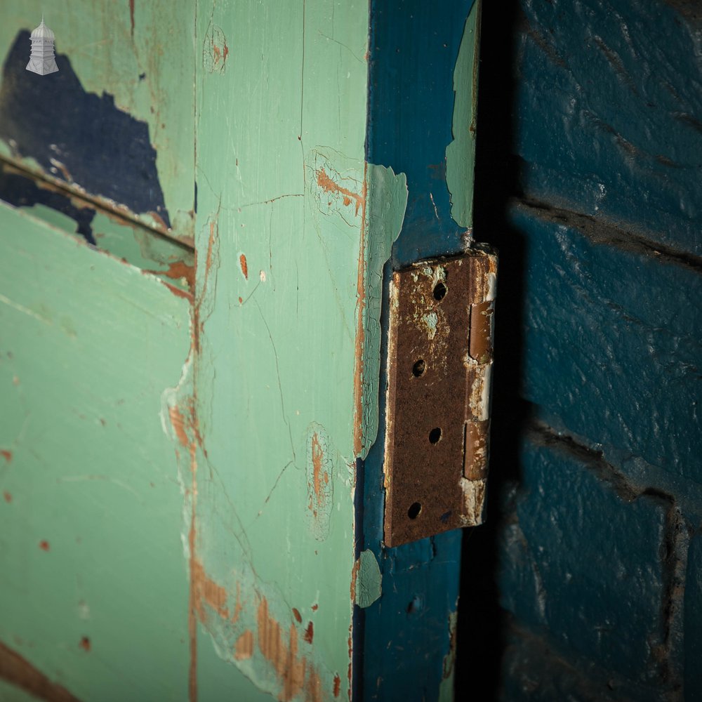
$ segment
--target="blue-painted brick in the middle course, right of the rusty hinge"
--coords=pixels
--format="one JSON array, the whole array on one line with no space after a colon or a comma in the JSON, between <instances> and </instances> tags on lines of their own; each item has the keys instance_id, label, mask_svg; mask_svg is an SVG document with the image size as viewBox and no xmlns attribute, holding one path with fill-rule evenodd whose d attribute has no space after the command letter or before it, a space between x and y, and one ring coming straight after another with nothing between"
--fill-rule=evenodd
<instances>
[{"instance_id":1,"label":"blue-painted brick in the middle course, right of the rusty hinge","mask_svg":"<svg viewBox=\"0 0 702 702\"><path fill-rule=\"evenodd\" d=\"M527 240L524 397L701 505L702 269L572 213L519 203L511 220Z\"/></svg>"}]
</instances>

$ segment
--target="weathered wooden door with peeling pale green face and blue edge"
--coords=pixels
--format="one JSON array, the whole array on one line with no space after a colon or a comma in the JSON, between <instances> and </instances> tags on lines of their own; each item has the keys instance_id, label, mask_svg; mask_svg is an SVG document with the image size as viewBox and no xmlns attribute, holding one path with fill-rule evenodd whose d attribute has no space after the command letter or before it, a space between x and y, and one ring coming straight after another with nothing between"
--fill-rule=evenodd
<instances>
[{"instance_id":1,"label":"weathered wooden door with peeling pale green face and blue edge","mask_svg":"<svg viewBox=\"0 0 702 702\"><path fill-rule=\"evenodd\" d=\"M415 258L470 234L477 9L454 5L423 51L455 241L427 225ZM364 541L383 279L426 195L369 158L369 4L44 8L46 76L42 9L0 27L0 698L370 697L378 663L380 698L408 664L450 698L460 535Z\"/></svg>"}]
</instances>

